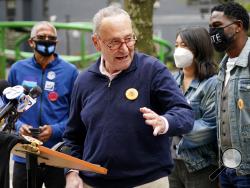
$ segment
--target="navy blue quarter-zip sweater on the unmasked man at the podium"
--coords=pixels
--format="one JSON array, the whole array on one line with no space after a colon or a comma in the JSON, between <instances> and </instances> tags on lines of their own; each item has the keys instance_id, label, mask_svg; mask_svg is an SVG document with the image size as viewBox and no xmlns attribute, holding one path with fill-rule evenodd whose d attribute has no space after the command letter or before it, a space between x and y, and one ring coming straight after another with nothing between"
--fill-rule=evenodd
<instances>
[{"instance_id":1,"label":"navy blue quarter-zip sweater on the unmasked man at the podium","mask_svg":"<svg viewBox=\"0 0 250 188\"><path fill-rule=\"evenodd\" d=\"M135 53L131 66L110 83L99 65L100 59L76 80L64 139L71 155L106 167L108 175L81 172L81 177L94 187L120 188L169 175L169 136L189 132L194 122L171 73L156 58ZM138 91L136 100L126 98L129 88ZM168 120L166 134L153 136L141 107Z\"/></svg>"}]
</instances>

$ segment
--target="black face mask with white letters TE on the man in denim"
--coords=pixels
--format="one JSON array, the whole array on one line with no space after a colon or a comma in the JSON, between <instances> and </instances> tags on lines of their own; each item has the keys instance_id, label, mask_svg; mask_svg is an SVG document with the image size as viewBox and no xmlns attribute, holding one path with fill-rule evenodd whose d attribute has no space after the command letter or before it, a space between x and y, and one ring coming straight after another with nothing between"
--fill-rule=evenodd
<instances>
[{"instance_id":1,"label":"black face mask with white letters TE on the man in denim","mask_svg":"<svg viewBox=\"0 0 250 188\"><path fill-rule=\"evenodd\" d=\"M224 32L224 28L234 24L230 23L225 27L210 27L209 28L209 35L211 37L213 46L216 51L224 52L226 49L229 48L230 44L233 41L234 34L232 36L227 36Z\"/></svg>"}]
</instances>

